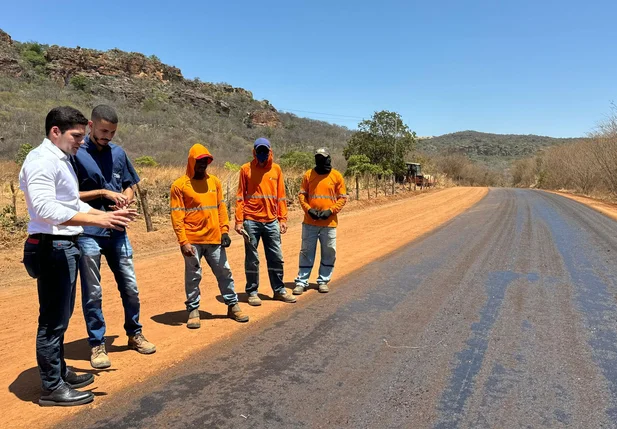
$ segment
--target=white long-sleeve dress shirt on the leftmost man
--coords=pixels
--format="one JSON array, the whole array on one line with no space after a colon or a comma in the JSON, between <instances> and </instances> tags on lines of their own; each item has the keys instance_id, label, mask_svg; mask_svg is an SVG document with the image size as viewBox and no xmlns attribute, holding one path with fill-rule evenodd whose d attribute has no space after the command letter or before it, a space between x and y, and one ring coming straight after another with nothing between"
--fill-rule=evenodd
<instances>
[{"instance_id":1,"label":"white long-sleeve dress shirt on the leftmost man","mask_svg":"<svg viewBox=\"0 0 617 429\"><path fill-rule=\"evenodd\" d=\"M26 195L29 234L77 235L81 226L63 226L78 212L92 207L79 199L75 170L66 153L45 139L33 149L19 172L19 187Z\"/></svg>"}]
</instances>

